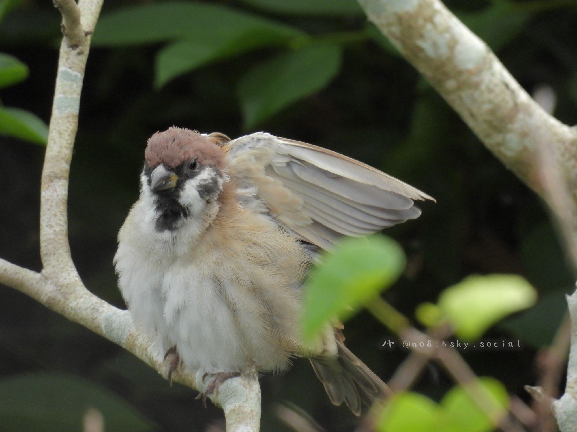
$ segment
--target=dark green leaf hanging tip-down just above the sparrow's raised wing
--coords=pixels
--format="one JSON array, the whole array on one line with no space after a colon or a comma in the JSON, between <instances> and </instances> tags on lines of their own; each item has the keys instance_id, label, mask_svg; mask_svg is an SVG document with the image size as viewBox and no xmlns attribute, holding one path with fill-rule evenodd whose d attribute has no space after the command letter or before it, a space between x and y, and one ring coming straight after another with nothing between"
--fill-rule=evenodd
<instances>
[{"instance_id":1,"label":"dark green leaf hanging tip-down just above the sparrow's raised wing","mask_svg":"<svg viewBox=\"0 0 577 432\"><path fill-rule=\"evenodd\" d=\"M340 69L340 47L308 44L252 67L238 83L249 130L291 103L326 86Z\"/></svg>"}]
</instances>

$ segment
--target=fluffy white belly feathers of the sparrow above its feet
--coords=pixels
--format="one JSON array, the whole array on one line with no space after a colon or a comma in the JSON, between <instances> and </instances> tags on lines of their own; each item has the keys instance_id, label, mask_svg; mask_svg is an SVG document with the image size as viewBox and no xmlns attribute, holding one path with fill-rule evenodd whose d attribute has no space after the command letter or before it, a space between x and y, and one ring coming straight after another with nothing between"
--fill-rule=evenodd
<instances>
[{"instance_id":1,"label":"fluffy white belly feathers of the sparrow above its feet","mask_svg":"<svg viewBox=\"0 0 577 432\"><path fill-rule=\"evenodd\" d=\"M226 266L218 266L216 276L215 265L204 260L159 260L158 253L122 242L115 263L130 313L155 335L159 354L176 346L186 366L209 373L241 371L248 359L261 370L287 365L287 353L273 342L278 335L261 316L258 299L242 295L246 283L238 286L242 276L227 274Z\"/></svg>"}]
</instances>

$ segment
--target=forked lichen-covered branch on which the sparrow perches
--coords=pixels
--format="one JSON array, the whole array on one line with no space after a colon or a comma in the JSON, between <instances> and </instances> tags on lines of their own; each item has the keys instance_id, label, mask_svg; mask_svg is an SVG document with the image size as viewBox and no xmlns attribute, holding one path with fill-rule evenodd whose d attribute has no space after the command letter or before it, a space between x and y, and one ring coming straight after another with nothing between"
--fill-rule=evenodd
<instances>
[{"instance_id":1,"label":"forked lichen-covered branch on which the sparrow perches","mask_svg":"<svg viewBox=\"0 0 577 432\"><path fill-rule=\"evenodd\" d=\"M68 242L68 183L74 139L78 128L80 94L90 40L103 0L54 0L62 14L63 39L58 59L48 145L40 198L40 273L0 259L0 283L13 287L43 305L117 343L164 377L168 365L153 348L152 338L134 326L130 313L93 295L78 276ZM204 392L208 382L183 367L173 380ZM258 431L260 386L256 366L250 364L230 378L211 399L222 406L227 431Z\"/></svg>"}]
</instances>

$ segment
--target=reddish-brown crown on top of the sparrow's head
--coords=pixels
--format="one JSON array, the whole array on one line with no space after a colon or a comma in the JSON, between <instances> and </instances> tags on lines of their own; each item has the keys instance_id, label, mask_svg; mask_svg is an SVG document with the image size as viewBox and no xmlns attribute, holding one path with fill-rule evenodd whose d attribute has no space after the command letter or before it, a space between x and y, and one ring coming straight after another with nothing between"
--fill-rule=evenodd
<instances>
[{"instance_id":1,"label":"reddish-brown crown on top of the sparrow's head","mask_svg":"<svg viewBox=\"0 0 577 432\"><path fill-rule=\"evenodd\" d=\"M224 166L224 153L218 145L198 131L179 127L170 127L152 135L148 139L144 158L151 167L164 164L175 168L194 158L200 164L211 165L219 170Z\"/></svg>"}]
</instances>

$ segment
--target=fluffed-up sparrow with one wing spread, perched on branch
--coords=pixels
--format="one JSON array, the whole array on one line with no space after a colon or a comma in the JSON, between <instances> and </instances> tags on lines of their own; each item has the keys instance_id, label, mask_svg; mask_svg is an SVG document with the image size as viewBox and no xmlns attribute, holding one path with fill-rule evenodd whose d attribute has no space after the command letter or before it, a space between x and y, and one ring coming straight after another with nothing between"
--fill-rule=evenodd
<instances>
[{"instance_id":1,"label":"fluffed-up sparrow with one wing spread, perched on branch","mask_svg":"<svg viewBox=\"0 0 577 432\"><path fill-rule=\"evenodd\" d=\"M428 195L368 165L258 132L230 140L171 127L148 140L140 199L118 234L118 283L156 346L210 380L282 372L308 357L354 414L387 386L344 346L342 325L301 342L302 284L317 251L417 218ZM328 326L327 326L328 327Z\"/></svg>"}]
</instances>

